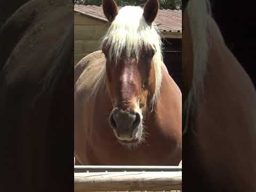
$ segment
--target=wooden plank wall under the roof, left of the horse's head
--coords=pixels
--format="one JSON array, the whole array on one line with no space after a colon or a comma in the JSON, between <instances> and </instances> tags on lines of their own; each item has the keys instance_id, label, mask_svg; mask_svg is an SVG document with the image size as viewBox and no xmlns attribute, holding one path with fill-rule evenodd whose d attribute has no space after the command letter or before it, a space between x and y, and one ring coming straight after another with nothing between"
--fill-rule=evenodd
<instances>
[{"instance_id":1,"label":"wooden plank wall under the roof, left of the horse's head","mask_svg":"<svg viewBox=\"0 0 256 192\"><path fill-rule=\"evenodd\" d=\"M106 22L79 15L74 15L74 64L87 54L100 50L100 38L107 32Z\"/></svg>"}]
</instances>

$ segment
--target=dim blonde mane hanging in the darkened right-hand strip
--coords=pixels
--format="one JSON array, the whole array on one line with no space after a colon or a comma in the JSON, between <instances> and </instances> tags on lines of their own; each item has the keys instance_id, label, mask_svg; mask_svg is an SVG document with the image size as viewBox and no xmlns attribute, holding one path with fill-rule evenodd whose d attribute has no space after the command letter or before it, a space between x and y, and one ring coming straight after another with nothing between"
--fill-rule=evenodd
<instances>
[{"instance_id":1,"label":"dim blonde mane hanging in the darkened right-hand strip","mask_svg":"<svg viewBox=\"0 0 256 192\"><path fill-rule=\"evenodd\" d=\"M210 44L207 37L208 15L211 15L209 0L190 0L187 5L188 18L193 43L193 82L186 102L183 104L183 126L188 129L188 118L195 111L196 102L204 100L204 77ZM183 117L182 117L183 119Z\"/></svg>"}]
</instances>

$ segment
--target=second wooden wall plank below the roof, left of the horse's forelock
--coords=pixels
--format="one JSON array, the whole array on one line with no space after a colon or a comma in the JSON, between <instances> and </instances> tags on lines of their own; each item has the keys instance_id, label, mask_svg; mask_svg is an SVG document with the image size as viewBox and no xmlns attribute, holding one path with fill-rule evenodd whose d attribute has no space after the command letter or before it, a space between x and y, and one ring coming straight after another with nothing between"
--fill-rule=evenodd
<instances>
[{"instance_id":1,"label":"second wooden wall plank below the roof, left of the horse's forelock","mask_svg":"<svg viewBox=\"0 0 256 192\"><path fill-rule=\"evenodd\" d=\"M74 33L75 40L98 40L107 33L108 26L106 25L75 25Z\"/></svg>"}]
</instances>

